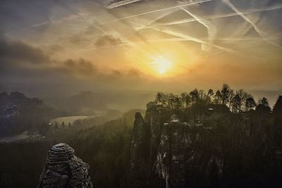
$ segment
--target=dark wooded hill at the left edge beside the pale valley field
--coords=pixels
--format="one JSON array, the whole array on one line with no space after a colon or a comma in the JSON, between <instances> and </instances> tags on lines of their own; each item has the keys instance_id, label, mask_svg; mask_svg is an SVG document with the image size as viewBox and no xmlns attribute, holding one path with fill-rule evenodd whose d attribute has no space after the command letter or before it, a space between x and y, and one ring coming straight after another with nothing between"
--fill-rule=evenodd
<instances>
[{"instance_id":1,"label":"dark wooded hill at the left edge beside the pale valley field","mask_svg":"<svg viewBox=\"0 0 282 188\"><path fill-rule=\"evenodd\" d=\"M42 99L29 98L20 92L0 94L0 136L42 131L51 118L64 115L70 114L44 104Z\"/></svg>"}]
</instances>

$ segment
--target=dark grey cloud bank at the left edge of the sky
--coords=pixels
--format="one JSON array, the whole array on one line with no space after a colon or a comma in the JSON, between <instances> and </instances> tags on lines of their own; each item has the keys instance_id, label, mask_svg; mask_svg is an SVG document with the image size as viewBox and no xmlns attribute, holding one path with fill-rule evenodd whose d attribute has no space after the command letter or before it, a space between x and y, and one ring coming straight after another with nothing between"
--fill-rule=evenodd
<instances>
[{"instance_id":1,"label":"dark grey cloud bank at the left edge of the sky","mask_svg":"<svg viewBox=\"0 0 282 188\"><path fill-rule=\"evenodd\" d=\"M61 46L53 46L54 50L61 50ZM47 50L48 51L48 50ZM83 58L78 60L68 59L61 61L51 57L51 51L45 51L24 42L11 42L0 39L0 67L1 73L20 74L27 77L38 76L37 73L47 70L53 74L71 73L79 75L90 75L97 71L97 68L90 61ZM25 74L24 72L28 73ZM37 72L37 73L35 73Z\"/></svg>"}]
</instances>

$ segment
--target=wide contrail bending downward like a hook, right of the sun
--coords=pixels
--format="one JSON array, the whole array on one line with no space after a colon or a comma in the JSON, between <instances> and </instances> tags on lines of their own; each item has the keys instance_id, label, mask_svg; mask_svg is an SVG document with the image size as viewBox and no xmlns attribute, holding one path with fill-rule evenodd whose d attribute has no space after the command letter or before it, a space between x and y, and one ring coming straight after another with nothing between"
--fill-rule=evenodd
<instances>
[{"instance_id":1,"label":"wide contrail bending downward like a hook, right of the sun","mask_svg":"<svg viewBox=\"0 0 282 188\"><path fill-rule=\"evenodd\" d=\"M204 19L198 17L197 15L190 13L190 11L186 10L183 7L181 7L181 9L183 11L185 11L186 13L188 13L189 15L191 15L193 18L195 18L197 20L197 22L204 25L204 27L207 27L207 31L208 31L208 34L209 34L209 44L207 46L207 51L209 51L210 46L213 43L214 38L216 36L216 32L217 32L216 27L209 20L204 20Z\"/></svg>"}]
</instances>

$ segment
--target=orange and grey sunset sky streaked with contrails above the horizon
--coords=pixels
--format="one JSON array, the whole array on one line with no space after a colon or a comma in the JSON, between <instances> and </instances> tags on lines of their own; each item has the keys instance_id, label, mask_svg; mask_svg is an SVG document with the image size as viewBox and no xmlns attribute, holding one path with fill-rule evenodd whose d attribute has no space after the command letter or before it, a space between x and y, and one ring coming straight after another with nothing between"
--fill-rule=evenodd
<instances>
[{"instance_id":1,"label":"orange and grey sunset sky streaked with contrails above the horizon","mask_svg":"<svg viewBox=\"0 0 282 188\"><path fill-rule=\"evenodd\" d=\"M0 90L281 93L281 0L2 0Z\"/></svg>"}]
</instances>

